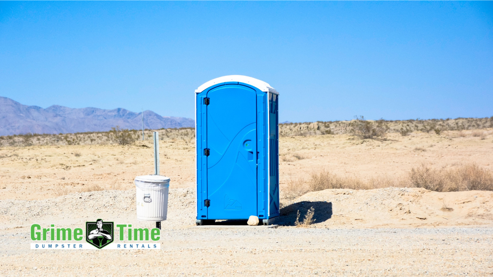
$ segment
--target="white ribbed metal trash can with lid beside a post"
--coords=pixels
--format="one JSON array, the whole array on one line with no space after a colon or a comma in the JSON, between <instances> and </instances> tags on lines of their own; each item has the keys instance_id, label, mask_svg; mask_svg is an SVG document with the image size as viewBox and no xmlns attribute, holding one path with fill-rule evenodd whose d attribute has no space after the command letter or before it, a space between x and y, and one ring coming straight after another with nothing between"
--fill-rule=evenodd
<instances>
[{"instance_id":1,"label":"white ribbed metal trash can with lid beside a post","mask_svg":"<svg viewBox=\"0 0 493 277\"><path fill-rule=\"evenodd\" d=\"M163 221L168 214L170 178L161 175L144 175L135 178L137 190L137 219Z\"/></svg>"}]
</instances>

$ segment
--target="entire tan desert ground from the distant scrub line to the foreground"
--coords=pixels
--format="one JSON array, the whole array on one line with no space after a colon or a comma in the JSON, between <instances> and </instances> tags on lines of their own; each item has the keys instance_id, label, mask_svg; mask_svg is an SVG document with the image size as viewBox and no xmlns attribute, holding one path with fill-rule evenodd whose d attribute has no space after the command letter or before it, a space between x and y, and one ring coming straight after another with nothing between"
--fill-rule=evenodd
<instances>
[{"instance_id":1,"label":"entire tan desert ground from the distant scrub line to the foreground","mask_svg":"<svg viewBox=\"0 0 493 277\"><path fill-rule=\"evenodd\" d=\"M423 164L454 169L474 163L493 170L493 129L479 131L481 136L474 130L394 132L378 140L283 136L277 228L195 226L194 140L163 140L161 174L171 178L171 186L161 250L29 249L33 223L75 228L103 217L153 227L136 219L133 183L153 173L148 138L128 146L4 146L0 275L491 276L493 191L437 192L403 182ZM320 170L377 180L378 188L287 197L289 185ZM312 207L314 223L295 226L297 212L301 220Z\"/></svg>"}]
</instances>

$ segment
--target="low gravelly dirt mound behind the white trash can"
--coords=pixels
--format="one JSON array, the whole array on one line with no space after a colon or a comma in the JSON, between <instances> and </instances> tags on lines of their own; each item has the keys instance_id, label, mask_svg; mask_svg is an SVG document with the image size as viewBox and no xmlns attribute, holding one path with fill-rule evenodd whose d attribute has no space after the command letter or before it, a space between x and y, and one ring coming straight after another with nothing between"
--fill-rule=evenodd
<instances>
[{"instance_id":1,"label":"low gravelly dirt mound behind the white trash can","mask_svg":"<svg viewBox=\"0 0 493 277\"><path fill-rule=\"evenodd\" d=\"M162 227L194 224L195 214L195 191L170 189L168 220ZM135 190L81 192L42 200L0 200L0 222L6 229L34 223L80 225L97 218L121 223L137 222Z\"/></svg>"}]
</instances>

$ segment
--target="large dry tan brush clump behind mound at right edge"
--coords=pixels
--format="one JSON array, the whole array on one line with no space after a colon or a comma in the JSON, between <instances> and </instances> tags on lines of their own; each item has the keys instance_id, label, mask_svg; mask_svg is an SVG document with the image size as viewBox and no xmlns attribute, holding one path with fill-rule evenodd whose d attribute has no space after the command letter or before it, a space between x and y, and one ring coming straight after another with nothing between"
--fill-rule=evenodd
<instances>
[{"instance_id":1,"label":"large dry tan brush clump behind mound at right edge","mask_svg":"<svg viewBox=\"0 0 493 277\"><path fill-rule=\"evenodd\" d=\"M421 165L411 169L408 182L434 191L493 190L493 174L469 164L456 169L432 169Z\"/></svg>"}]
</instances>

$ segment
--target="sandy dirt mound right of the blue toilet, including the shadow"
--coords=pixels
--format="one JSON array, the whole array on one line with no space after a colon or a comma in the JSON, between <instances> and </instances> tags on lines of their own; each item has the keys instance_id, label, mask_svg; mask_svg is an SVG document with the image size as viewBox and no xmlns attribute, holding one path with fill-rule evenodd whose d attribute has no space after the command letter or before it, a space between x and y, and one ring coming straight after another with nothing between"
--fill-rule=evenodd
<instances>
[{"instance_id":1,"label":"sandy dirt mound right of the blue toilet, including the shadow","mask_svg":"<svg viewBox=\"0 0 493 277\"><path fill-rule=\"evenodd\" d=\"M434 227L493 224L492 191L435 192L423 188L326 189L284 203L282 221L294 225L315 209L317 227Z\"/></svg>"}]
</instances>

